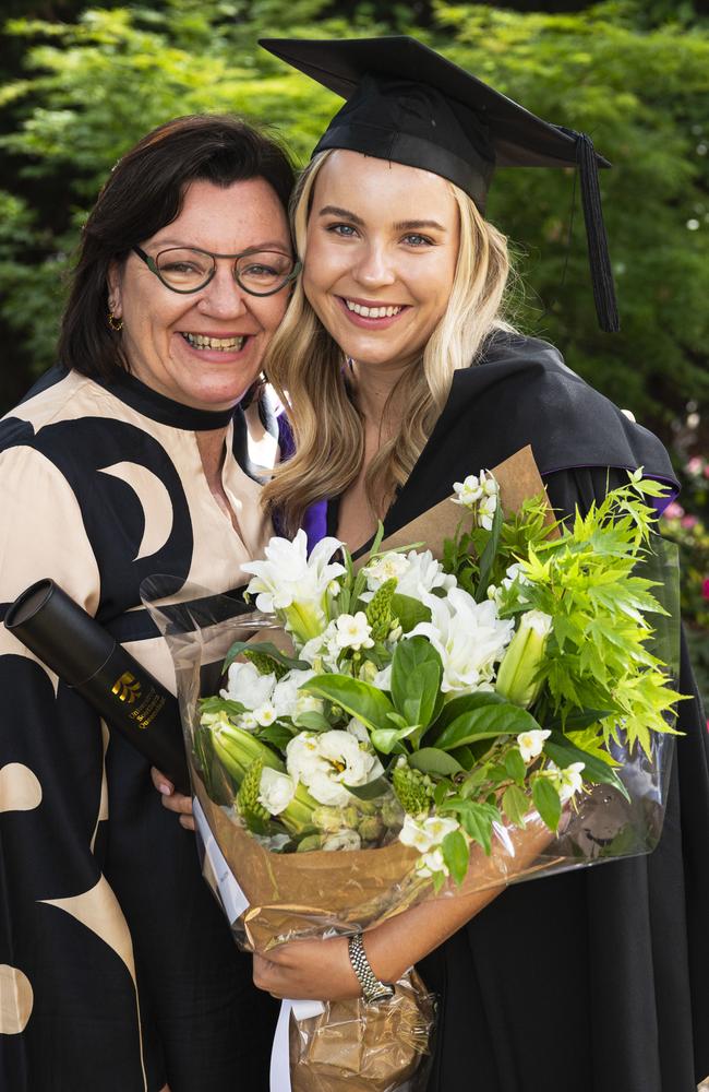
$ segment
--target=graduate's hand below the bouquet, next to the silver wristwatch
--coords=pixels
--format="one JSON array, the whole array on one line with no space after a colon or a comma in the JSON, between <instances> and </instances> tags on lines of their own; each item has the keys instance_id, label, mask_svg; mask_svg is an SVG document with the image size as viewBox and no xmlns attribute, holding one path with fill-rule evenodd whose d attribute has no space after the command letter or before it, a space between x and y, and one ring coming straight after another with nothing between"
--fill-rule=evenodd
<instances>
[{"instance_id":1,"label":"graduate's hand below the bouquet, next to the silver wristwatch","mask_svg":"<svg viewBox=\"0 0 709 1092\"><path fill-rule=\"evenodd\" d=\"M347 954L347 937L292 940L254 952L253 981L273 997L339 1001L362 993Z\"/></svg>"}]
</instances>

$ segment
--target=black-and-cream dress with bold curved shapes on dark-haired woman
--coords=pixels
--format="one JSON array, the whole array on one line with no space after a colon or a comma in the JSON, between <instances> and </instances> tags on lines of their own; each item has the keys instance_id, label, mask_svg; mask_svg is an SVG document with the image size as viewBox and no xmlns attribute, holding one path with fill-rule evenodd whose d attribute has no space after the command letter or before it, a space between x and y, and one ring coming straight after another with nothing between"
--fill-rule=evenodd
<instances>
[{"instance_id":1,"label":"black-and-cream dress with bold curved shapes on dark-haired woman","mask_svg":"<svg viewBox=\"0 0 709 1092\"><path fill-rule=\"evenodd\" d=\"M209 491L196 434L226 424L130 377L38 384L0 422L0 617L52 577L172 688L141 581L226 591L269 534L239 459L239 534ZM272 999L146 761L2 626L0 696L2 1092L265 1092Z\"/></svg>"}]
</instances>

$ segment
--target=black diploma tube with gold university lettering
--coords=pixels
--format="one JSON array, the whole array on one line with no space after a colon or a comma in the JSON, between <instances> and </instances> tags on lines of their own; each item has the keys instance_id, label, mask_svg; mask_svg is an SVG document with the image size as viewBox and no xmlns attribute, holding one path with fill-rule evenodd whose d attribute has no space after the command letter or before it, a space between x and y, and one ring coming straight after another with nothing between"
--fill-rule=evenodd
<instances>
[{"instance_id":1,"label":"black diploma tube with gold university lettering","mask_svg":"<svg viewBox=\"0 0 709 1092\"><path fill-rule=\"evenodd\" d=\"M179 792L191 793L177 699L53 580L19 595L5 627Z\"/></svg>"}]
</instances>

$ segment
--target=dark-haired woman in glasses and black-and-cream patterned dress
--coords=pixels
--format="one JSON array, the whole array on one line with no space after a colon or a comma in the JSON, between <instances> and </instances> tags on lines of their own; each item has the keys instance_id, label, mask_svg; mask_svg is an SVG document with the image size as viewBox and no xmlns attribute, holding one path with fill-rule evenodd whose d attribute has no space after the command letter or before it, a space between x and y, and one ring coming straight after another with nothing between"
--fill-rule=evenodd
<instances>
[{"instance_id":1,"label":"dark-haired woman in glasses and black-and-cream patterned dress","mask_svg":"<svg viewBox=\"0 0 709 1092\"><path fill-rule=\"evenodd\" d=\"M240 120L145 136L83 233L61 367L0 423L0 601L53 578L167 685L141 580L228 591L269 534L252 475L277 438L256 381L296 269L291 186ZM3 1088L253 1092L269 1001L193 838L146 762L4 629L0 680Z\"/></svg>"}]
</instances>

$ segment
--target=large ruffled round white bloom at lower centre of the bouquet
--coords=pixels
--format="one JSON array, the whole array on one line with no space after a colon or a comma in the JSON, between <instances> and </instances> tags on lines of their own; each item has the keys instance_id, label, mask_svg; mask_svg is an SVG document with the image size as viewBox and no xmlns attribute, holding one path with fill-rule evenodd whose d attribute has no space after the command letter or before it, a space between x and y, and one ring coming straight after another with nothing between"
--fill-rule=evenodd
<instances>
[{"instance_id":1,"label":"large ruffled round white bloom at lower centre of the bouquet","mask_svg":"<svg viewBox=\"0 0 709 1092\"><path fill-rule=\"evenodd\" d=\"M382 763L350 732L301 732L286 747L286 764L319 804L348 804L346 785L365 785L383 773Z\"/></svg>"}]
</instances>

